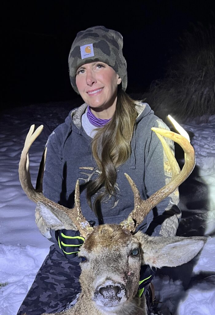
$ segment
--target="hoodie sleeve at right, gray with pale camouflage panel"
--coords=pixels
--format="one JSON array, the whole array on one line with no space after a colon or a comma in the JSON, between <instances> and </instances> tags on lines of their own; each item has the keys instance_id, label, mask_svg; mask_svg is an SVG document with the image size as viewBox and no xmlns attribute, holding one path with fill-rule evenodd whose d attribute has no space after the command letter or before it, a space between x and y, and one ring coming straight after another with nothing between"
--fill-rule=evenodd
<instances>
[{"instance_id":1,"label":"hoodie sleeve at right, gray with pale camouflage panel","mask_svg":"<svg viewBox=\"0 0 215 315\"><path fill-rule=\"evenodd\" d=\"M168 129L162 120L157 119L155 126ZM174 152L174 143L165 138L166 142ZM158 189L166 185L172 178L170 164L157 135L152 132L151 139L145 152L145 185L147 195L151 196ZM178 188L167 198L162 200L157 207L147 215L146 234L158 236L175 236L181 218L178 207Z\"/></svg>"}]
</instances>

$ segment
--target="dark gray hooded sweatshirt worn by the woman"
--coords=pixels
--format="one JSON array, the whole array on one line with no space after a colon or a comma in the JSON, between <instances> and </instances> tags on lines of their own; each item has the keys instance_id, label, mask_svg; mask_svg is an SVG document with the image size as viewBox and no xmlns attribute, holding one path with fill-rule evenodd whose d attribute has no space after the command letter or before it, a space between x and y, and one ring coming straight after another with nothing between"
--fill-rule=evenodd
<instances>
[{"instance_id":1,"label":"dark gray hooded sweatshirt worn by the woman","mask_svg":"<svg viewBox=\"0 0 215 315\"><path fill-rule=\"evenodd\" d=\"M81 116L86 111L86 104L72 110L49 136L47 141L47 159L43 179L44 195L68 208L74 206L74 187L77 179L80 183L80 203L83 215L96 225L104 223L120 223L133 209L133 192L124 173L130 175L139 189L142 199L146 199L163 187L171 179L171 169L163 151L163 147L152 127L168 129L161 119L146 103L137 103L136 128L131 140L131 155L117 169L115 189L117 196L109 196L101 204L101 216L98 220L86 201L86 185L98 176L92 157L91 141L82 124ZM167 140L168 141L168 140ZM174 150L172 141L168 141ZM94 196L93 196L94 197ZM93 200L92 200L93 203ZM141 229L149 235L173 236L180 220L178 208L179 193L175 190L146 216L137 230Z\"/></svg>"}]
</instances>

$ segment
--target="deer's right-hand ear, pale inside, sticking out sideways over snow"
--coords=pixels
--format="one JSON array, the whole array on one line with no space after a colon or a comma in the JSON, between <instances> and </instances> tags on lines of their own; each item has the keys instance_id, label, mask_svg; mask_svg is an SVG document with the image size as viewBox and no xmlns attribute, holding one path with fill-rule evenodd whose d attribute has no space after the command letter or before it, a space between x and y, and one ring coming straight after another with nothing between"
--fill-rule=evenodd
<instances>
[{"instance_id":1,"label":"deer's right-hand ear, pale inside, sticking out sideways over snow","mask_svg":"<svg viewBox=\"0 0 215 315\"><path fill-rule=\"evenodd\" d=\"M143 261L158 268L180 266L195 257L206 241L206 237L146 237Z\"/></svg>"}]
</instances>

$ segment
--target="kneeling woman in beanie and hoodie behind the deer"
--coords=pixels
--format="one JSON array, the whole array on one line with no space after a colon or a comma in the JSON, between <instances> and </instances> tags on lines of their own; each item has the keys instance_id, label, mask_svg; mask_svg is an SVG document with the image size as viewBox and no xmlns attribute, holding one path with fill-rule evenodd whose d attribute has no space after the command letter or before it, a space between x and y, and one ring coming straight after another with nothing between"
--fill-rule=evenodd
<instances>
[{"instance_id":1,"label":"kneeling woman in beanie and hoodie behind the deer","mask_svg":"<svg viewBox=\"0 0 215 315\"><path fill-rule=\"evenodd\" d=\"M120 223L133 209L133 192L125 172L135 181L142 199L171 178L163 147L151 130L167 126L148 104L134 101L124 92L127 70L122 46L121 34L103 26L77 34L69 54L69 72L72 87L85 103L71 111L47 141L44 195L72 208L79 179L81 209L92 225ZM137 230L149 235L174 234L180 219L178 201L175 191ZM76 253L84 239L78 231L48 229L37 211L36 223L54 245L18 315L69 309L80 292ZM143 268L140 295L153 276L150 268Z\"/></svg>"}]
</instances>

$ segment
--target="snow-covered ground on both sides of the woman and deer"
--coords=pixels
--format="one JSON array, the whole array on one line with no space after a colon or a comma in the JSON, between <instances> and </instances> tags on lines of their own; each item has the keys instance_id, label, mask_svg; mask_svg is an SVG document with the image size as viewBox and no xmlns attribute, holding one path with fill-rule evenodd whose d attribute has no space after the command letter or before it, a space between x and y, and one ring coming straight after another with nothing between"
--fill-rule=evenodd
<instances>
[{"instance_id":1,"label":"snow-covered ground on both sides of the woman and deer","mask_svg":"<svg viewBox=\"0 0 215 315\"><path fill-rule=\"evenodd\" d=\"M0 133L0 314L16 315L51 243L42 237L34 222L35 204L23 192L18 164L31 124L44 125L30 150L30 172L36 182L41 154L48 135L67 116L71 104L36 104L10 109L1 117ZM190 205L189 192L182 198L182 235L213 235L215 232L215 117L209 123L186 124L193 134L198 172L192 191L198 205ZM195 189L195 183L198 188ZM186 191L186 186L184 186ZM195 195L195 194L194 194ZM192 204L194 204L192 202ZM205 208L204 208L205 205ZM213 315L215 313L215 238L207 241L192 262L163 268L154 280L158 306L163 315Z\"/></svg>"}]
</instances>

